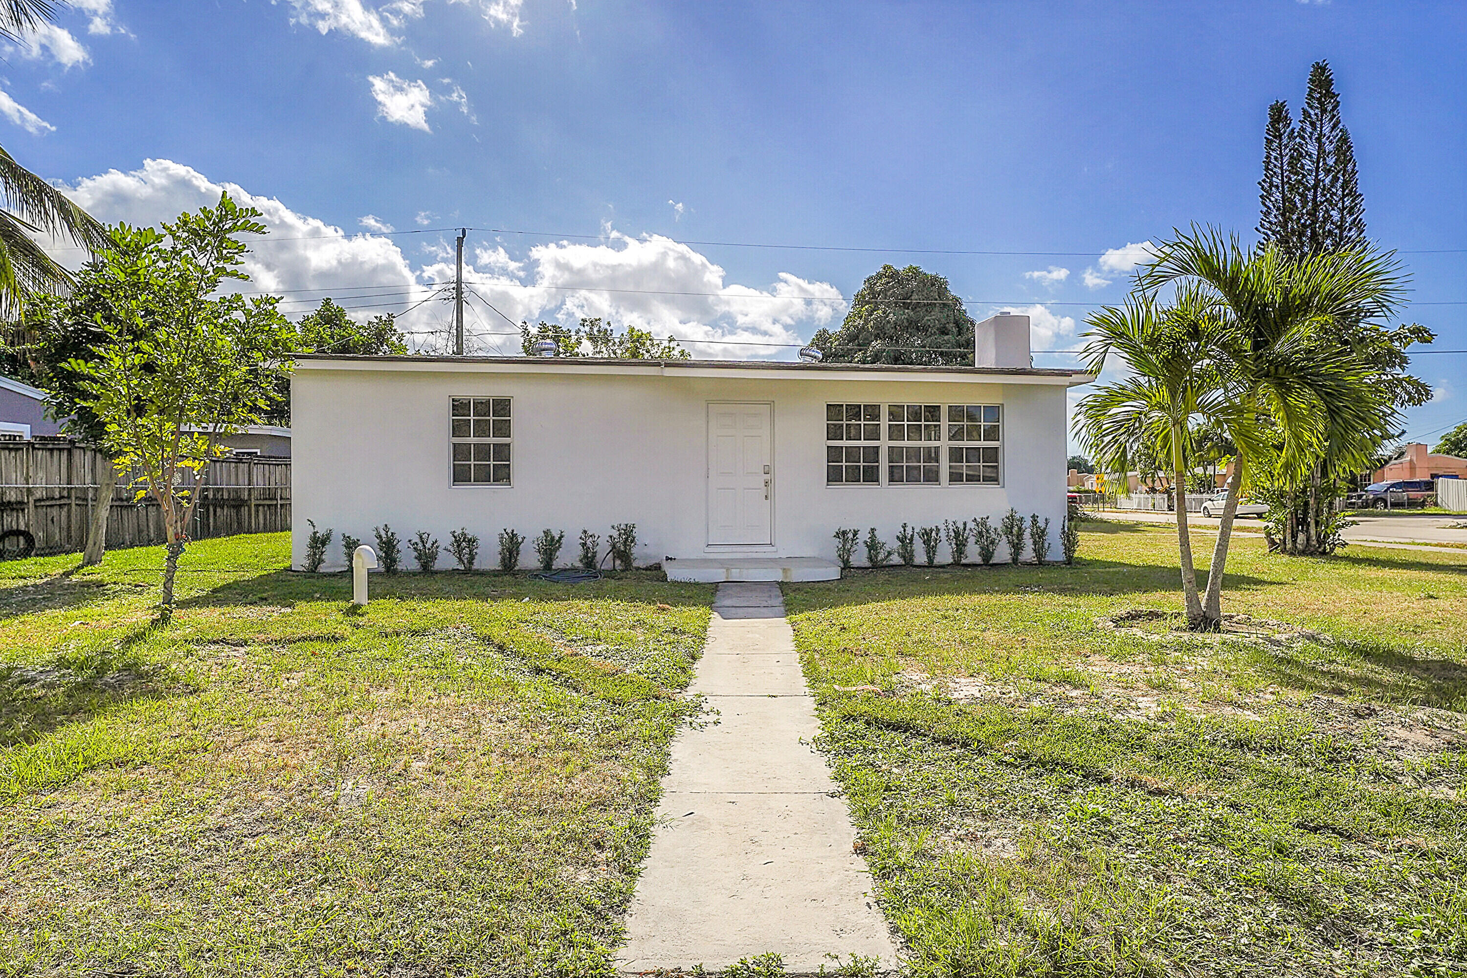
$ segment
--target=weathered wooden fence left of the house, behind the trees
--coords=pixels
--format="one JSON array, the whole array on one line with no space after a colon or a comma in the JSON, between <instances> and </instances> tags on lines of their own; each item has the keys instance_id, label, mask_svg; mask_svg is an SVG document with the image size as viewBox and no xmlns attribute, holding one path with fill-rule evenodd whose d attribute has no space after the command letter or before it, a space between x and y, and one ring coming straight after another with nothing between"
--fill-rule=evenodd
<instances>
[{"instance_id":1,"label":"weathered wooden fence left of the house, behind the trees","mask_svg":"<svg viewBox=\"0 0 1467 978\"><path fill-rule=\"evenodd\" d=\"M0 531L29 531L37 554L82 550L103 465L101 453L65 440L0 441ZM133 501L128 478L107 513L109 550L163 543L158 504ZM290 460L211 462L192 522L194 540L290 529Z\"/></svg>"}]
</instances>

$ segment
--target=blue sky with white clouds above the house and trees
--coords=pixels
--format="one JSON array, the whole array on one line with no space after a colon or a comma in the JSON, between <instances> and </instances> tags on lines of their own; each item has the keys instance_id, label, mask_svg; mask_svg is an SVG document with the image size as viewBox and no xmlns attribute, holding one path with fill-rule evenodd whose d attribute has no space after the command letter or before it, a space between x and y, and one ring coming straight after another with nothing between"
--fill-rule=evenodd
<instances>
[{"instance_id":1,"label":"blue sky with white clouds above the house and trees","mask_svg":"<svg viewBox=\"0 0 1467 978\"><path fill-rule=\"evenodd\" d=\"M402 232L535 232L469 236L478 349L599 314L791 356L756 343L838 321L883 261L1059 349L1124 296L1127 245L1251 236L1267 106L1325 57L1370 235L1439 252L1402 254L1407 315L1467 349L1464 28L1460 3L1347 0L73 0L6 54L0 133L106 220L248 195L276 229L251 268L292 311L428 298L452 235ZM403 320L430 349L445 321ZM1408 435L1467 418L1467 355L1416 362L1438 397Z\"/></svg>"}]
</instances>

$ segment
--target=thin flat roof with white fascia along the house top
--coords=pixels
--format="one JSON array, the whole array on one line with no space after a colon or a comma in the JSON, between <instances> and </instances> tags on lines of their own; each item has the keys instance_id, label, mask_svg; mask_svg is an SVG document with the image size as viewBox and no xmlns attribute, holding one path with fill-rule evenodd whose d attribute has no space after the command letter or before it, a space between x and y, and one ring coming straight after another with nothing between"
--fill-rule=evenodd
<instances>
[{"instance_id":1,"label":"thin flat roof with white fascia along the house top","mask_svg":"<svg viewBox=\"0 0 1467 978\"><path fill-rule=\"evenodd\" d=\"M902 364L804 364L791 361L610 359L601 356L422 356L296 353L304 369L461 369L469 372L565 372L687 377L820 377L823 380L980 380L1089 384L1093 374L1059 367L946 367Z\"/></svg>"}]
</instances>

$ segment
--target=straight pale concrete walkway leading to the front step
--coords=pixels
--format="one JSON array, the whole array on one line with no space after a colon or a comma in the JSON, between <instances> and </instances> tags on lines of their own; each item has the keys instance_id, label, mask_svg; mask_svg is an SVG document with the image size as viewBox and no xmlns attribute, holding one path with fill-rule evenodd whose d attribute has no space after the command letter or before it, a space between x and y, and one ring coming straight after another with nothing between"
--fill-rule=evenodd
<instances>
[{"instance_id":1,"label":"straight pale concrete walkway leading to the front step","mask_svg":"<svg viewBox=\"0 0 1467 978\"><path fill-rule=\"evenodd\" d=\"M896 965L866 861L824 761L778 584L722 584L694 692L716 720L672 745L657 831L637 886L622 972L716 971L826 955Z\"/></svg>"}]
</instances>

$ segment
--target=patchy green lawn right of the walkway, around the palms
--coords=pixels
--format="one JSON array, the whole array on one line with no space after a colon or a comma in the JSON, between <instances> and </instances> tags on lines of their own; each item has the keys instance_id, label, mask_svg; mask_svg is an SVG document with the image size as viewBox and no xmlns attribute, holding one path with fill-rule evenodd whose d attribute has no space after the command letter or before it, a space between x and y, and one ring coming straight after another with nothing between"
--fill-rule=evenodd
<instances>
[{"instance_id":1,"label":"patchy green lawn right of the walkway, around the palms","mask_svg":"<svg viewBox=\"0 0 1467 978\"><path fill-rule=\"evenodd\" d=\"M1467 557L1235 538L1225 610L1291 628L1097 622L1178 607L1174 534L786 585L911 971L1467 974Z\"/></svg>"}]
</instances>

